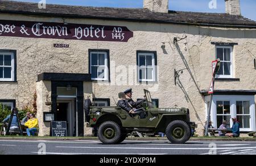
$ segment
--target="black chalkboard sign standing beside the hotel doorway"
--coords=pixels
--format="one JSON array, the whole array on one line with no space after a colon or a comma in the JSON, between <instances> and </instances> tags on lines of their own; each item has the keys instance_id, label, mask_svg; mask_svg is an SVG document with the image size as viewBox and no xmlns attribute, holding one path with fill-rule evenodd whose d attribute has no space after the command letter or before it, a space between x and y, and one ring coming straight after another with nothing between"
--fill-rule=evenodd
<instances>
[{"instance_id":1,"label":"black chalkboard sign standing beside the hotel doorway","mask_svg":"<svg viewBox=\"0 0 256 166\"><path fill-rule=\"evenodd\" d=\"M67 135L67 122L52 121L52 136L68 136Z\"/></svg>"}]
</instances>

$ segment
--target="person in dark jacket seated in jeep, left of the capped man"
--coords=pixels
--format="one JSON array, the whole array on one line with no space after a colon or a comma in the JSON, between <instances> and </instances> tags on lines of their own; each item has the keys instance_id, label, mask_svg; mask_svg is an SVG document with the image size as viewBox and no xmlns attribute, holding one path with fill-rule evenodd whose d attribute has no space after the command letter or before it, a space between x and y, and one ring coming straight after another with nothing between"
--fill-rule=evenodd
<instances>
[{"instance_id":1,"label":"person in dark jacket seated in jeep, left of the capped man","mask_svg":"<svg viewBox=\"0 0 256 166\"><path fill-rule=\"evenodd\" d=\"M127 111L127 113L129 113L131 115L137 114L137 113L135 113L135 108L133 108L130 105L130 103L126 100L125 93L123 93L123 92L118 93L118 97L120 98L120 100L118 101L117 105L119 107L121 107L121 109ZM146 118L146 116L143 116L143 114L144 114L144 112L139 113L139 116L141 118Z\"/></svg>"}]
</instances>

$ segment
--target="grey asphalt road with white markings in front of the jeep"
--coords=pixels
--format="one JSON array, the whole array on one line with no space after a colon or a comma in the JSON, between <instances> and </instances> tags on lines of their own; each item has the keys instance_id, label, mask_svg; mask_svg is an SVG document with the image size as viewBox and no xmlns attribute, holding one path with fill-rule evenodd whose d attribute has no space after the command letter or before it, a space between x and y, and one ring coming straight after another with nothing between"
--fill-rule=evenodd
<instances>
[{"instance_id":1,"label":"grey asphalt road with white markings in front of the jeep","mask_svg":"<svg viewBox=\"0 0 256 166\"><path fill-rule=\"evenodd\" d=\"M0 155L256 155L255 142L190 140L125 140L104 145L99 140L0 139Z\"/></svg>"}]
</instances>

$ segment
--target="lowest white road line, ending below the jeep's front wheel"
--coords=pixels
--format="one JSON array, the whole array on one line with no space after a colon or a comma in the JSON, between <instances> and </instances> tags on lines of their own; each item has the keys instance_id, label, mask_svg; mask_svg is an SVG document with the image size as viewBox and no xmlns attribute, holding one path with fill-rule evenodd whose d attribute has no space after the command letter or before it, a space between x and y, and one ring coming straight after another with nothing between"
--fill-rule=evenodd
<instances>
[{"instance_id":1,"label":"lowest white road line, ending below the jeep's front wheel","mask_svg":"<svg viewBox=\"0 0 256 166\"><path fill-rule=\"evenodd\" d=\"M39 153L39 152L31 152ZM167 155L167 153L60 153L60 152L43 152L44 155Z\"/></svg>"}]
</instances>

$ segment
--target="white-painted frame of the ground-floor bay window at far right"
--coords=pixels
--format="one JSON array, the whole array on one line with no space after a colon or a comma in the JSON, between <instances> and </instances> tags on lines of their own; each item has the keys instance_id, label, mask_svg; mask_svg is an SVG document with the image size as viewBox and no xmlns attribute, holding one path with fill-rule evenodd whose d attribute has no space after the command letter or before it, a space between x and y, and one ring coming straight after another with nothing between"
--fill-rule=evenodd
<instances>
[{"instance_id":1,"label":"white-painted frame of the ground-floor bay window at far right","mask_svg":"<svg viewBox=\"0 0 256 166\"><path fill-rule=\"evenodd\" d=\"M205 119L207 119L207 102L209 102L210 96L205 97ZM214 127L220 127L216 126L217 123L217 115L216 115L216 101L230 101L230 114L231 118L234 118L237 116L237 110L236 110L236 102L237 101L250 101L250 128L240 128L240 131L244 132L250 132L250 131L256 131L256 121L255 121L255 97L254 96L229 96L229 95L214 95L213 96L213 102L211 107L211 113L210 113L210 121L213 122ZM230 119L230 126L233 125L232 119Z\"/></svg>"}]
</instances>

